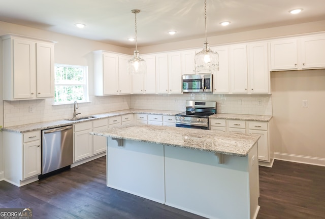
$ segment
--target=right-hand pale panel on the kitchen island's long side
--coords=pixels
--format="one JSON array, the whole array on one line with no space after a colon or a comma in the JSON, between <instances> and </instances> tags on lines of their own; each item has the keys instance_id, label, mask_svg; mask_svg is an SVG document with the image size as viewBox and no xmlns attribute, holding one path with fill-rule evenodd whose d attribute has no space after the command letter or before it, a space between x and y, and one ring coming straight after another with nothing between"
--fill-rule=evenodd
<instances>
[{"instance_id":1,"label":"right-hand pale panel on the kitchen island's long side","mask_svg":"<svg viewBox=\"0 0 325 219\"><path fill-rule=\"evenodd\" d=\"M253 218L258 196L250 197L249 180L248 156L224 155L220 164L212 152L165 146L167 205L208 218Z\"/></svg>"}]
</instances>

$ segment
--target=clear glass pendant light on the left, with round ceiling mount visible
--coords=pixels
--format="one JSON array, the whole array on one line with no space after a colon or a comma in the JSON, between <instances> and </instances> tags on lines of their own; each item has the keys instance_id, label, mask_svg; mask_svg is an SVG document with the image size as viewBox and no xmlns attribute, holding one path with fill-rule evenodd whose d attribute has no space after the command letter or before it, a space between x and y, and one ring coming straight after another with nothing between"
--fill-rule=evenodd
<instances>
[{"instance_id":1,"label":"clear glass pendant light on the left, with round ceiling mount visible","mask_svg":"<svg viewBox=\"0 0 325 219\"><path fill-rule=\"evenodd\" d=\"M127 69L129 74L146 74L147 65L144 59L139 56L139 51L137 49L137 14L140 12L138 9L131 11L135 14L135 24L136 24L136 50L134 51L134 57L128 60Z\"/></svg>"}]
</instances>

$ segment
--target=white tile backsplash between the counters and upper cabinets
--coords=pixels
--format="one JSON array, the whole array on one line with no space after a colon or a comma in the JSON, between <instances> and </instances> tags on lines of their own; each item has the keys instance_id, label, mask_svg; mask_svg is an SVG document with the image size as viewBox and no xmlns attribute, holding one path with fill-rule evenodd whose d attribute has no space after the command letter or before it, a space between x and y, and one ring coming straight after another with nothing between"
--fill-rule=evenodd
<instances>
[{"instance_id":1,"label":"white tile backsplash between the counters and upper cabinets","mask_svg":"<svg viewBox=\"0 0 325 219\"><path fill-rule=\"evenodd\" d=\"M185 111L186 100L217 102L217 113L272 115L271 95L119 95L91 96L79 103L81 115L99 114L124 109ZM23 125L73 117L73 104L53 105L54 99L4 101L4 126Z\"/></svg>"}]
</instances>

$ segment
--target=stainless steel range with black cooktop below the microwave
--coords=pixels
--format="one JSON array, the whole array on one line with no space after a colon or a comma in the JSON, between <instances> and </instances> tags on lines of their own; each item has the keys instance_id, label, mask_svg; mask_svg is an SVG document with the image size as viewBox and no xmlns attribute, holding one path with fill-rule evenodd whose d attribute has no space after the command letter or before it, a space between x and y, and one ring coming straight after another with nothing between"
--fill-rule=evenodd
<instances>
[{"instance_id":1,"label":"stainless steel range with black cooktop below the microwave","mask_svg":"<svg viewBox=\"0 0 325 219\"><path fill-rule=\"evenodd\" d=\"M217 112L215 101L186 101L186 111L176 114L176 127L209 129L209 116Z\"/></svg>"}]
</instances>

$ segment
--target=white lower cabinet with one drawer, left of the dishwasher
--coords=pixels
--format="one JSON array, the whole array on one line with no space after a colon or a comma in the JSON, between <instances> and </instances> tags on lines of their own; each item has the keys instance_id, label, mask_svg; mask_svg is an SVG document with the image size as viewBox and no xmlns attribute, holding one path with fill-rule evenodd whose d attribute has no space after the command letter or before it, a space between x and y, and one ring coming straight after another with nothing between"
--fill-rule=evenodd
<instances>
[{"instance_id":1,"label":"white lower cabinet with one drawer, left of the dishwasher","mask_svg":"<svg viewBox=\"0 0 325 219\"><path fill-rule=\"evenodd\" d=\"M3 132L5 180L16 186L38 180L41 174L41 131Z\"/></svg>"}]
</instances>

